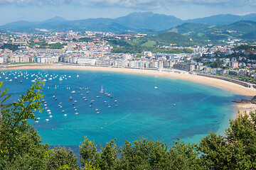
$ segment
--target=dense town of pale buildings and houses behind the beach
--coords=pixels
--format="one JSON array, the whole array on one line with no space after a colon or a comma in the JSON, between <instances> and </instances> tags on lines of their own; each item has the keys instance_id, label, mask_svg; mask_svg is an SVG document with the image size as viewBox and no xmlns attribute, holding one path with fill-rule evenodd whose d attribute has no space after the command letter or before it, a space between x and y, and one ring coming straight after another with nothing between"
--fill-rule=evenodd
<instances>
[{"instance_id":1,"label":"dense town of pale buildings and houses behind the beach","mask_svg":"<svg viewBox=\"0 0 256 170\"><path fill-rule=\"evenodd\" d=\"M107 40L97 38L100 33L85 32L83 35L69 31L68 33L49 33L48 35L6 35L0 33L0 47L4 43L18 45L15 52L9 49L0 49L0 64L9 63L38 63L38 64L82 64L107 67L131 67L139 69L180 69L188 72L203 71L210 74L233 74L247 77L254 76L256 60L248 60L244 55L256 55L255 50L231 50L232 46L215 47L187 47L193 50L192 54L153 54L149 51L137 54L111 53L111 45ZM101 33L102 36L114 36L111 33ZM119 39L121 35L117 35ZM143 36L143 35L140 35ZM94 38L93 41L76 41L80 38ZM34 42L31 47L30 42ZM63 44L62 49L41 49L40 43ZM174 46L164 46L182 48ZM234 52L243 54L240 57L225 57ZM215 62L217 56L220 62L228 69L207 67L206 63ZM249 68L249 69L248 69Z\"/></svg>"}]
</instances>

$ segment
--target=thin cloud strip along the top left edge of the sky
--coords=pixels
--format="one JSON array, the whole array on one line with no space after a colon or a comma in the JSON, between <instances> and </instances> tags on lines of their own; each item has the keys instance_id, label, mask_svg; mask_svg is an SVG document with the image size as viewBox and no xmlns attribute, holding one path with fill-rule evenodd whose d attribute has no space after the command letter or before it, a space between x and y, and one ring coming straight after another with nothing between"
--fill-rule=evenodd
<instances>
[{"instance_id":1,"label":"thin cloud strip along the top left edge of the sky","mask_svg":"<svg viewBox=\"0 0 256 170\"><path fill-rule=\"evenodd\" d=\"M0 0L0 5L15 6L58 6L62 4L75 3L77 0Z\"/></svg>"}]
</instances>

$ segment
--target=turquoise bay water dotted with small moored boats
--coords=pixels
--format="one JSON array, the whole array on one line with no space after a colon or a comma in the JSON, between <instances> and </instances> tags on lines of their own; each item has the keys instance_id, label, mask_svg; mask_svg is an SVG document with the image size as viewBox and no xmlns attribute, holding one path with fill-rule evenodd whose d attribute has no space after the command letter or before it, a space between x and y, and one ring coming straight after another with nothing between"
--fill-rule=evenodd
<instances>
[{"instance_id":1,"label":"turquoise bay water dotted with small moored boats","mask_svg":"<svg viewBox=\"0 0 256 170\"><path fill-rule=\"evenodd\" d=\"M55 146L78 146L84 136L97 144L117 138L118 146L139 136L168 145L176 137L198 142L210 130L223 133L233 118L231 101L243 97L191 81L113 72L19 70L1 74L1 81L15 101L33 84L36 75L47 80L42 94L48 108L36 113L38 123L31 123L43 142ZM55 79L49 80L50 76ZM101 86L104 93L100 93ZM58 107L60 102L62 108Z\"/></svg>"}]
</instances>

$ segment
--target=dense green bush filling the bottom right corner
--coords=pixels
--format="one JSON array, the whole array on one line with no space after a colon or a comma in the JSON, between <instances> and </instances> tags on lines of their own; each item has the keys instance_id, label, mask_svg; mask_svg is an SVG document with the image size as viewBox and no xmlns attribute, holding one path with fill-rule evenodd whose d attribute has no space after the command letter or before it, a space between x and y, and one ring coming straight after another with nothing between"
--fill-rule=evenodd
<instances>
[{"instance_id":1,"label":"dense green bush filling the bottom right corner","mask_svg":"<svg viewBox=\"0 0 256 170\"><path fill-rule=\"evenodd\" d=\"M256 168L256 114L238 115L222 137L211 132L200 142L203 163L208 169Z\"/></svg>"}]
</instances>

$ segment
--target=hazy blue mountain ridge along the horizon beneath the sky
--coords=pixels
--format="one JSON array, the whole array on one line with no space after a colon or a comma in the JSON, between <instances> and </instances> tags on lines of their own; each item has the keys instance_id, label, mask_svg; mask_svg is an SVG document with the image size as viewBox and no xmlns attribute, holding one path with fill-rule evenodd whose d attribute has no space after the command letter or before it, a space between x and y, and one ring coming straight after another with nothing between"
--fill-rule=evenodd
<instances>
[{"instance_id":1,"label":"hazy blue mountain ridge along the horizon beneath the sky","mask_svg":"<svg viewBox=\"0 0 256 170\"><path fill-rule=\"evenodd\" d=\"M245 16L220 14L190 20L181 20L175 16L167 16L152 12L134 12L119 18L89 18L75 21L67 21L64 18L56 16L46 21L16 21L13 23L6 23L4 26L0 26L0 29L13 32L33 32L36 31L36 28L45 28L55 31L92 30L114 33L130 31L157 32L175 28L176 26L180 26L184 23L201 23L208 26L218 26L232 24L238 21L256 22L256 13L250 13Z\"/></svg>"}]
</instances>

